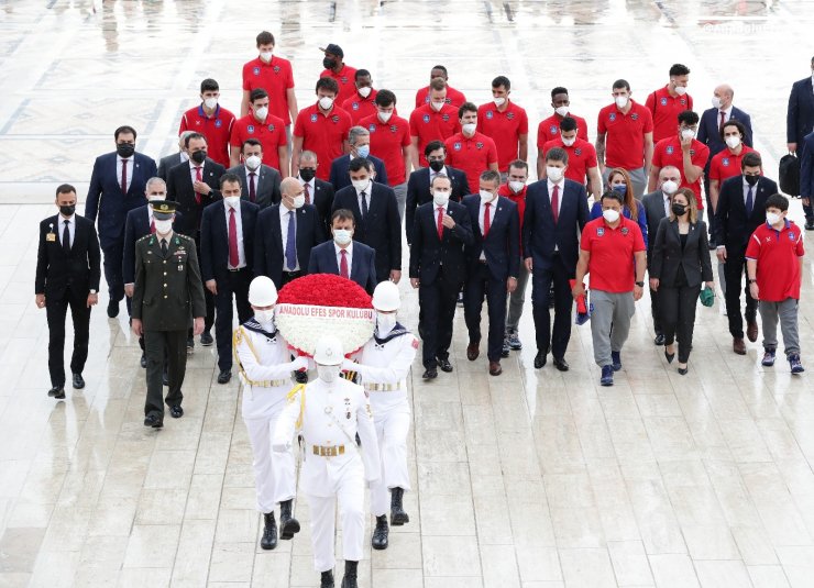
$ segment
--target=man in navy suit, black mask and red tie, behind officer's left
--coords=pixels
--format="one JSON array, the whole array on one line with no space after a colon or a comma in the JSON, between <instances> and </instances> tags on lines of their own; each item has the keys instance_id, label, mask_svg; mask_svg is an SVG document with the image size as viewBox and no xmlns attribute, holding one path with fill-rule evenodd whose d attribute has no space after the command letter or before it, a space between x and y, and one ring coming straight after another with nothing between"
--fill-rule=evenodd
<instances>
[{"instance_id":1,"label":"man in navy suit, black mask and red tie, behind officer's left","mask_svg":"<svg viewBox=\"0 0 814 588\"><path fill-rule=\"evenodd\" d=\"M85 201L85 217L99 224L99 244L105 253L105 280L110 292L108 317L111 319L119 315L119 301L124 298L121 267L124 219L129 211L146 204L144 188L147 179L156 175L155 162L135 153L135 129L120 126L113 136L116 152L96 158Z\"/></svg>"}]
</instances>

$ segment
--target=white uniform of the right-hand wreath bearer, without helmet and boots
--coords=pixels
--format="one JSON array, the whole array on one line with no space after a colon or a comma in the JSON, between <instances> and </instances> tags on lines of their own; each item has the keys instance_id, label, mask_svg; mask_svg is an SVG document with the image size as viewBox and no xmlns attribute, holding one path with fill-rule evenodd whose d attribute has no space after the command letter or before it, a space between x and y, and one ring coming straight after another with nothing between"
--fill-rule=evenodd
<instances>
[{"instance_id":1,"label":"white uniform of the right-hand wreath bearer, without helmet and boots","mask_svg":"<svg viewBox=\"0 0 814 588\"><path fill-rule=\"evenodd\" d=\"M396 331L396 329L398 331ZM393 339L388 337L398 332ZM376 341L376 336L381 337ZM407 375L418 351L418 340L400 325L389 333L376 332L354 356L356 373L370 395L373 422L382 454L382 476L371 485L371 511L386 514L392 488L410 489L407 468L407 434L410 430L410 403Z\"/></svg>"}]
</instances>

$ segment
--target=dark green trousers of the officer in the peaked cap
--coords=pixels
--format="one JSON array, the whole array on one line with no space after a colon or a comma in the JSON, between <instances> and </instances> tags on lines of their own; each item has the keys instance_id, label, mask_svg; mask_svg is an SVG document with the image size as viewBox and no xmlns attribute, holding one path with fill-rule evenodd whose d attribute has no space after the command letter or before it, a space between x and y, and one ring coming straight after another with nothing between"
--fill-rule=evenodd
<instances>
[{"instance_id":1,"label":"dark green trousers of the officer in the peaked cap","mask_svg":"<svg viewBox=\"0 0 814 588\"><path fill-rule=\"evenodd\" d=\"M144 331L147 356L147 399L144 415L164 415L164 357L167 360L169 391L166 403L179 407L184 400L180 391L187 370L187 331Z\"/></svg>"}]
</instances>

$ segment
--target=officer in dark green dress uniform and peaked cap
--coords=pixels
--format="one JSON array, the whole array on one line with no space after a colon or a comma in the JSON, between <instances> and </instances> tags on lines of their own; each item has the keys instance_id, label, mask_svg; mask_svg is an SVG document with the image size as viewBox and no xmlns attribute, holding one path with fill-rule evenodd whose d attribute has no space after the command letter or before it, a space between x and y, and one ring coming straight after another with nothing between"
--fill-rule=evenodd
<instances>
[{"instance_id":1,"label":"officer in dark green dress uniform and peaked cap","mask_svg":"<svg viewBox=\"0 0 814 588\"><path fill-rule=\"evenodd\" d=\"M135 286L132 330L144 336L147 356L147 399L144 425L164 426L162 371L167 357L169 414L179 419L184 395L180 388L187 367L187 329L195 318L195 334L204 331L206 302L195 242L173 231L176 202L150 202L155 233L135 244Z\"/></svg>"}]
</instances>

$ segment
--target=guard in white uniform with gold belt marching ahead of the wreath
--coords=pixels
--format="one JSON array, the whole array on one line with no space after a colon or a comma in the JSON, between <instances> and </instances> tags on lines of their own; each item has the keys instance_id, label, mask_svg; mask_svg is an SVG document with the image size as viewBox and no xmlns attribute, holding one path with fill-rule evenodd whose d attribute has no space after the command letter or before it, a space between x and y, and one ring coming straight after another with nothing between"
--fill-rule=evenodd
<instances>
[{"instance_id":1,"label":"guard in white uniform with gold belt marching ahead of the wreath","mask_svg":"<svg viewBox=\"0 0 814 588\"><path fill-rule=\"evenodd\" d=\"M361 386L340 377L343 353L342 342L333 335L317 342L318 378L292 390L273 442L275 452L290 451L297 426L305 439L299 481L310 509L314 567L322 575L321 588L333 588L337 500L345 562L342 588L358 588L356 567L364 547L364 482L380 476L371 404Z\"/></svg>"}]
</instances>

